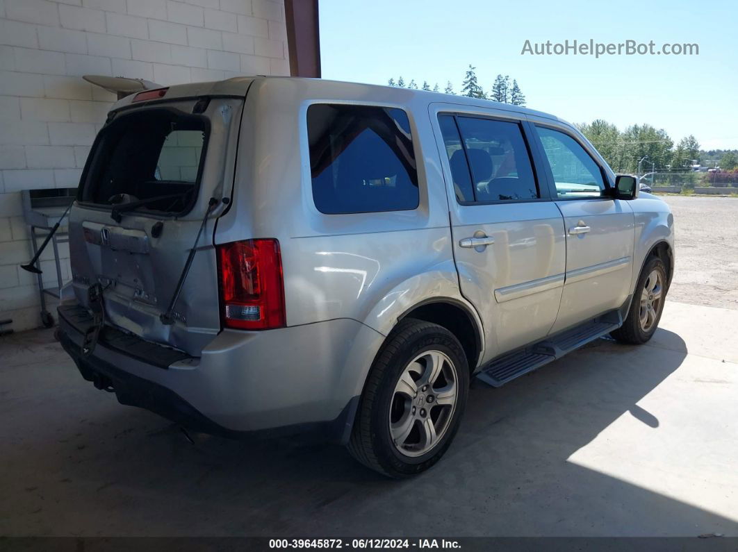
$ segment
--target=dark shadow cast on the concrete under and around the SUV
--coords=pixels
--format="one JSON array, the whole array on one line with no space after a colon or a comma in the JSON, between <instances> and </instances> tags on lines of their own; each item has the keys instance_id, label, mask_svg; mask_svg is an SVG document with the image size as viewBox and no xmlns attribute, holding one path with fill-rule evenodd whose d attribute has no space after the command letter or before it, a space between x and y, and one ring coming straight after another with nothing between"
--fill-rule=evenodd
<instances>
[{"instance_id":1,"label":"dark shadow cast on the concrete under and around the SUV","mask_svg":"<svg viewBox=\"0 0 738 552\"><path fill-rule=\"evenodd\" d=\"M205 435L190 444L95 391L66 357L2 371L15 381L0 437L15 446L0 453L12 479L0 534L738 534L725 517L568 461L624 413L660 430L658 412L636 403L679 368L686 346L659 332L677 346L599 340L503 388L477 382L449 453L410 481L370 472L337 446Z\"/></svg>"}]
</instances>

